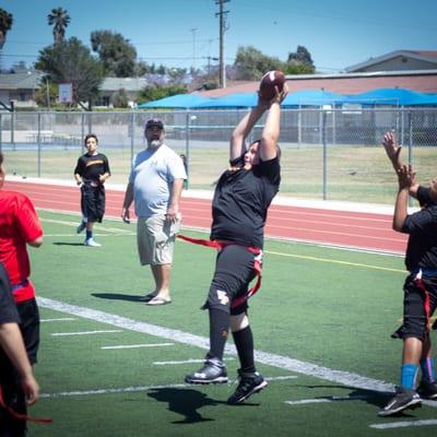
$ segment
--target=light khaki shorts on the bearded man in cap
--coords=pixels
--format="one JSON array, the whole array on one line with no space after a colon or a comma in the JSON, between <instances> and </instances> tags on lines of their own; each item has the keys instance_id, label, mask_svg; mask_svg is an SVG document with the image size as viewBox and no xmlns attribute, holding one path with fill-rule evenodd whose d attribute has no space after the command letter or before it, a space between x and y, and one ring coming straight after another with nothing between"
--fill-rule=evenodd
<instances>
[{"instance_id":1,"label":"light khaki shorts on the bearded man in cap","mask_svg":"<svg viewBox=\"0 0 437 437\"><path fill-rule=\"evenodd\" d=\"M137 244L141 265L170 264L179 227L180 220L169 223L164 215L139 217Z\"/></svg>"}]
</instances>

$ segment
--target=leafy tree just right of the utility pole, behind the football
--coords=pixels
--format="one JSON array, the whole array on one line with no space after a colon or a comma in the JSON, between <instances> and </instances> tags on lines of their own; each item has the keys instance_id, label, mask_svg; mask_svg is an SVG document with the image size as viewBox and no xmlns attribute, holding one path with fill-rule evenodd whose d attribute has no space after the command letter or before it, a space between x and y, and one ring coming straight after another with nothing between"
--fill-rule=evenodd
<instances>
[{"instance_id":1,"label":"leafy tree just right of the utility pole, behind the football","mask_svg":"<svg viewBox=\"0 0 437 437\"><path fill-rule=\"evenodd\" d=\"M238 47L234 67L236 79L257 81L262 78L265 71L281 70L283 62L279 58L263 55L253 46Z\"/></svg>"}]
</instances>

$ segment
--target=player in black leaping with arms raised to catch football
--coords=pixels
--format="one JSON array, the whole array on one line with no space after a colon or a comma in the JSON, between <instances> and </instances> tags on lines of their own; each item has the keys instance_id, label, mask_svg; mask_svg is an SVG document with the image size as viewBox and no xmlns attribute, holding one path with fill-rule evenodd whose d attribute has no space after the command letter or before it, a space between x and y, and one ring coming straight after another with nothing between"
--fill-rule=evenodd
<instances>
[{"instance_id":1,"label":"player in black leaping with arms raised to catch football","mask_svg":"<svg viewBox=\"0 0 437 437\"><path fill-rule=\"evenodd\" d=\"M188 383L227 382L223 353L231 328L240 368L239 385L227 400L229 404L240 403L267 386L255 366L247 299L256 291L248 291L249 283L256 275L260 277L267 212L281 180L277 139L281 102L287 94L285 79L282 85L272 84L272 87L273 97L265 99L259 92L257 106L239 121L232 134L231 168L217 181L212 204L211 240L202 243L218 249L204 304L210 316L210 351L204 366L187 375L185 380ZM264 113L261 139L246 147L246 138Z\"/></svg>"}]
</instances>

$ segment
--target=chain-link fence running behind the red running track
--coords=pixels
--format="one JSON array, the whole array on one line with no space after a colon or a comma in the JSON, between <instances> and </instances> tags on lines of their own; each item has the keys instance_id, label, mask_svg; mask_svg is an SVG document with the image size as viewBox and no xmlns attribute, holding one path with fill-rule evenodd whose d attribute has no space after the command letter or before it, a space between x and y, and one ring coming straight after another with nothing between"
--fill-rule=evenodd
<instances>
[{"instance_id":1,"label":"chain-link fence running behind the red running track","mask_svg":"<svg viewBox=\"0 0 437 437\"><path fill-rule=\"evenodd\" d=\"M166 142L187 157L189 188L212 189L227 166L228 139L246 110L131 113L0 113L0 149L7 172L72 179L83 138L93 132L110 162L109 182L126 184L134 154L144 147L149 118L163 119ZM383 133L397 132L403 160L421 182L437 173L437 108L282 110L282 184L286 196L391 203L397 181L383 149ZM263 119L251 135L257 139Z\"/></svg>"}]
</instances>

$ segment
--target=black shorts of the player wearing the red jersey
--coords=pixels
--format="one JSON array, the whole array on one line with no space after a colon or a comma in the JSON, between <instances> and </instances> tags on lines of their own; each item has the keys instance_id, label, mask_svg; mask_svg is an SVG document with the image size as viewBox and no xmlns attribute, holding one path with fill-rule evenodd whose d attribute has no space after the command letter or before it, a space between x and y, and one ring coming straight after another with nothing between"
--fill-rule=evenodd
<instances>
[{"instance_id":1,"label":"black shorts of the player wearing the red jersey","mask_svg":"<svg viewBox=\"0 0 437 437\"><path fill-rule=\"evenodd\" d=\"M36 355L39 346L39 311L36 299L20 302L16 309L21 318L21 333L23 335L24 345L26 346L28 361L31 364L36 363Z\"/></svg>"}]
</instances>

